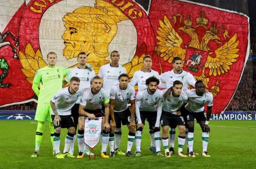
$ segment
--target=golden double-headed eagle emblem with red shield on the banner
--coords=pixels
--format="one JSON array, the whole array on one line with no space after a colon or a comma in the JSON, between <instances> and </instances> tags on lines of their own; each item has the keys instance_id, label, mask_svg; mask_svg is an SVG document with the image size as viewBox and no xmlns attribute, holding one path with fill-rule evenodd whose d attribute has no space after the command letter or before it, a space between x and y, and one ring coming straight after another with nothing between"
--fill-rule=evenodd
<instances>
[{"instance_id":1,"label":"golden double-headed eagle emblem with red shield on the banner","mask_svg":"<svg viewBox=\"0 0 256 169\"><path fill-rule=\"evenodd\" d=\"M186 20L183 21L183 26L178 28L177 31L172 26L171 22L175 24L177 18L179 18L181 23L183 16L176 14L172 20L169 20L165 15L163 20L159 20L160 26L157 29L158 36L156 36L159 42L157 42L158 46L155 48L155 51L163 60L169 63L172 63L172 59L175 56L179 56L183 59L183 69L186 68L186 70L195 70L196 72L198 71L196 68L201 66L201 72L199 74L192 74L194 74L196 79L203 80L208 87L209 77L205 75L205 70L209 69L209 76L214 77L227 73L230 70L230 65L233 65L233 63L237 61L236 58L239 56L237 54L239 51L237 48L239 41L236 40L237 34L234 34L230 38L228 35L229 32L223 25L220 25L217 29L216 23L212 23L212 26L208 28L208 19L205 18L204 15L205 13L201 11L201 17L196 18L197 25L195 27L192 27L192 20L190 20L191 17L188 15ZM197 33L198 30L201 31L201 34ZM186 34L186 37L189 36L190 42L184 44L179 34ZM223 43L221 39L225 42L223 45L216 49L209 47L210 42L215 42L217 45ZM193 53L193 51L195 51L196 54ZM193 56L199 55L201 57L197 58L204 59L204 62L195 60L195 57L193 58ZM196 68L192 69L192 67Z\"/></svg>"}]
</instances>

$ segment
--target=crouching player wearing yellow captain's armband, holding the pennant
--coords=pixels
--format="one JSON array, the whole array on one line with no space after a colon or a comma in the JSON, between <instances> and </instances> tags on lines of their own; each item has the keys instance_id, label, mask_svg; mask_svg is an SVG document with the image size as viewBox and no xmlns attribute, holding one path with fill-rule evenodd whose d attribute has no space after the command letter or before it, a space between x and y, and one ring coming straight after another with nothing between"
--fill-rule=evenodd
<instances>
[{"instance_id":1,"label":"crouching player wearing yellow captain's armband, holding the pennant","mask_svg":"<svg viewBox=\"0 0 256 169\"><path fill-rule=\"evenodd\" d=\"M109 158L107 155L107 146L109 140L109 130L110 125L108 123L109 119L109 96L102 89L102 78L99 76L94 76L92 79L92 87L84 89L81 97L79 106L79 130L77 135L77 141L79 146L79 155L77 158L84 157L84 117L95 119L97 117L103 117L104 113L102 111L102 103L105 107L105 120L102 120L102 153L103 158Z\"/></svg>"}]
</instances>

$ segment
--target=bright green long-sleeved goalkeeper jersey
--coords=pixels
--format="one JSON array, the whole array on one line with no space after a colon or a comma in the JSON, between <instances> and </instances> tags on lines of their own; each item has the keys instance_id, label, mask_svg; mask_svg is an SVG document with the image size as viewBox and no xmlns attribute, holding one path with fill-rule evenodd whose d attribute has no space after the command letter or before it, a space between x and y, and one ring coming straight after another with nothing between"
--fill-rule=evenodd
<instances>
[{"instance_id":1,"label":"bright green long-sleeved goalkeeper jersey","mask_svg":"<svg viewBox=\"0 0 256 169\"><path fill-rule=\"evenodd\" d=\"M38 96L38 103L49 103L52 97L62 88L63 76L67 75L68 69L56 66L48 66L39 69L33 81L32 89ZM38 90L40 84L40 90Z\"/></svg>"}]
</instances>

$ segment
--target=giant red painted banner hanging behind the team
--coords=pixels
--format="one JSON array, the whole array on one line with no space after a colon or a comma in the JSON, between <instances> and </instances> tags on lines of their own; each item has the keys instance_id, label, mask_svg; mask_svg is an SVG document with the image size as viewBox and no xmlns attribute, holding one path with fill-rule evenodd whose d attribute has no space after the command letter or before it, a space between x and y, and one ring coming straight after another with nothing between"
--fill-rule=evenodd
<instances>
[{"instance_id":1,"label":"giant red painted banner hanging behind the team","mask_svg":"<svg viewBox=\"0 0 256 169\"><path fill-rule=\"evenodd\" d=\"M120 51L130 78L142 68L145 54L159 73L172 70L173 57L180 56L183 70L203 80L213 94L213 113L227 107L248 57L244 14L181 0L80 3L31 0L17 8L0 36L0 105L35 95L32 81L47 65L47 50L57 52L58 65L71 67L81 47L90 53L96 73L109 63L112 49Z\"/></svg>"}]
</instances>

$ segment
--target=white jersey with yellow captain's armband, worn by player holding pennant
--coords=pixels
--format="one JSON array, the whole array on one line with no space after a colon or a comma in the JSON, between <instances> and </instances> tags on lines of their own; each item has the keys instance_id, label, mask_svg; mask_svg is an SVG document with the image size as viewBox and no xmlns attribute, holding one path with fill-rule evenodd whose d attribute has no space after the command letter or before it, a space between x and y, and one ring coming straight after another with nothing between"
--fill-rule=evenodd
<instances>
[{"instance_id":1,"label":"white jersey with yellow captain's armband, worn by player holding pennant","mask_svg":"<svg viewBox=\"0 0 256 169\"><path fill-rule=\"evenodd\" d=\"M88 110L102 109L102 103L109 102L109 94L104 89L99 90L99 93L93 94L92 87L84 89L82 93L80 104L85 106Z\"/></svg>"}]
</instances>

